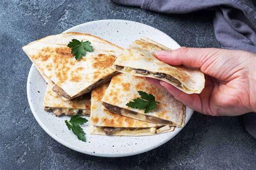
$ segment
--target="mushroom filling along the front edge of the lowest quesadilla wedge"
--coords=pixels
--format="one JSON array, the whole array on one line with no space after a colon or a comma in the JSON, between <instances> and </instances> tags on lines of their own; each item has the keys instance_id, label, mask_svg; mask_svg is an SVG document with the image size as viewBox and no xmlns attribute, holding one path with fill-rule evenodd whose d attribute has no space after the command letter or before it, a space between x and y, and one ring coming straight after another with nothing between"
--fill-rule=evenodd
<instances>
[{"instance_id":1,"label":"mushroom filling along the front edge of the lowest quesadilla wedge","mask_svg":"<svg viewBox=\"0 0 256 170\"><path fill-rule=\"evenodd\" d=\"M152 128L113 128L113 127L101 127L101 129L105 132L106 135L112 135L116 132L120 131L138 131L139 132L145 132L145 133L152 133L152 134L158 134L164 131L171 130L170 125L163 125L163 126L157 126Z\"/></svg>"}]
</instances>

